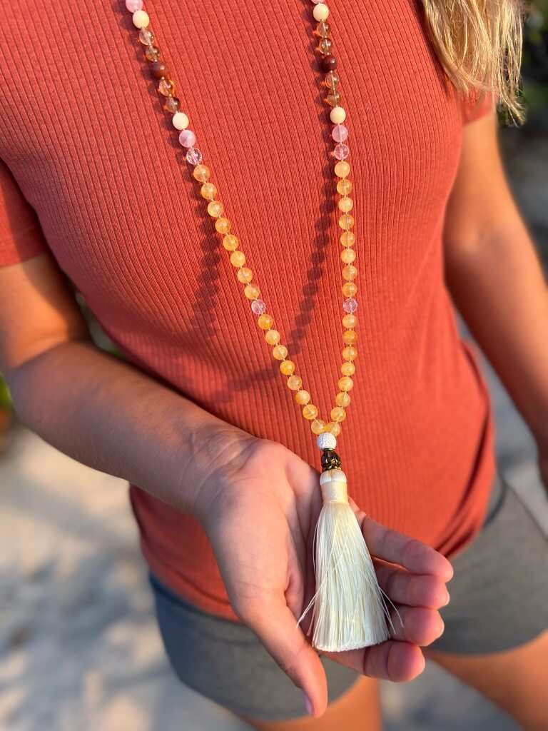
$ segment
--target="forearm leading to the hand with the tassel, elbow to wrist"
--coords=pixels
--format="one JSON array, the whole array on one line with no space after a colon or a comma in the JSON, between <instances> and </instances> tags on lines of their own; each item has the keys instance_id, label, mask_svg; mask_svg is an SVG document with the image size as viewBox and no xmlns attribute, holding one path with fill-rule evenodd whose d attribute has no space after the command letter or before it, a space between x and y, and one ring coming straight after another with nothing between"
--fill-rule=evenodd
<instances>
[{"instance_id":1,"label":"forearm leading to the hand with the tassel, elbow to wrist","mask_svg":"<svg viewBox=\"0 0 548 731\"><path fill-rule=\"evenodd\" d=\"M45 441L191 515L204 480L246 439L91 343L68 341L23 363L9 388L23 422Z\"/></svg>"}]
</instances>

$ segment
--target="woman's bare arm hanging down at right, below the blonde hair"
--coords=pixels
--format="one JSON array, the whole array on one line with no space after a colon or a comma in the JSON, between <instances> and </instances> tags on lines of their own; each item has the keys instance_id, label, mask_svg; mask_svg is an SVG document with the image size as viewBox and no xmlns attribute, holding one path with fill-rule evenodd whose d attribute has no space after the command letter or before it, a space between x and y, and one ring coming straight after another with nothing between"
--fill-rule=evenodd
<instances>
[{"instance_id":1,"label":"woman's bare arm hanging down at right, below the blonde hair","mask_svg":"<svg viewBox=\"0 0 548 731\"><path fill-rule=\"evenodd\" d=\"M533 432L548 485L548 289L506 183L495 115L465 126L444 246L454 303Z\"/></svg>"}]
</instances>

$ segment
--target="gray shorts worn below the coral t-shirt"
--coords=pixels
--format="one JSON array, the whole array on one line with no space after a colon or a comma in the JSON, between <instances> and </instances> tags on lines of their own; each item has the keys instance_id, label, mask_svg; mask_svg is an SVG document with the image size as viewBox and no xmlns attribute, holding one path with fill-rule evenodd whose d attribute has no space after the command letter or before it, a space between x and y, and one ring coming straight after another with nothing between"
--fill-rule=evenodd
<instances>
[{"instance_id":1,"label":"gray shorts worn below the coral t-shirt","mask_svg":"<svg viewBox=\"0 0 548 731\"><path fill-rule=\"evenodd\" d=\"M452 561L444 634L430 648L485 654L548 628L548 539L520 496L495 477L479 536ZM162 639L180 681L229 710L268 721L304 715L298 689L246 625L186 602L150 576ZM320 656L329 701L359 678Z\"/></svg>"}]
</instances>

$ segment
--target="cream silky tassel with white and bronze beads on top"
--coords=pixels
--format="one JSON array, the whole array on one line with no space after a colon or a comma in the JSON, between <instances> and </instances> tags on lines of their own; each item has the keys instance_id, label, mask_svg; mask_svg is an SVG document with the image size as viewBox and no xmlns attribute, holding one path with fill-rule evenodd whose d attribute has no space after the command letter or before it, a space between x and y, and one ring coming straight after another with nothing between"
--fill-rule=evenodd
<instances>
[{"instance_id":1,"label":"cream silky tassel with white and bronze beads on top","mask_svg":"<svg viewBox=\"0 0 548 731\"><path fill-rule=\"evenodd\" d=\"M298 626L313 606L312 645L320 651L339 652L369 647L389 638L387 620L393 627L383 591L346 489L346 475L332 451L335 439L321 434L323 450L320 485L323 507L313 538L316 594L297 621ZM336 444L336 442L335 442ZM327 459L325 458L327 455ZM390 602L392 603L392 602Z\"/></svg>"}]
</instances>

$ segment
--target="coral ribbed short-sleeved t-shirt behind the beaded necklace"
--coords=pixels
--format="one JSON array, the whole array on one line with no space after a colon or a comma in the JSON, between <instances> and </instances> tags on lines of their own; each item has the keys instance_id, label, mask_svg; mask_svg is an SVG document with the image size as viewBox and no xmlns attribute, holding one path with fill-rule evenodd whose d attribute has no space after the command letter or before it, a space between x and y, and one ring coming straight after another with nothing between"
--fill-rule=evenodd
<instances>
[{"instance_id":1,"label":"coral ribbed short-sleeved t-shirt behind the beaded necklace","mask_svg":"<svg viewBox=\"0 0 548 731\"><path fill-rule=\"evenodd\" d=\"M150 0L181 109L321 414L340 377L332 140L305 0ZM357 236L359 355L338 451L376 520L453 556L494 474L487 390L457 333L442 228L464 104L414 0L332 0ZM205 212L123 0L0 0L0 264L49 249L137 367L319 467L309 424ZM151 568L235 619L199 523L136 486Z\"/></svg>"}]
</instances>

